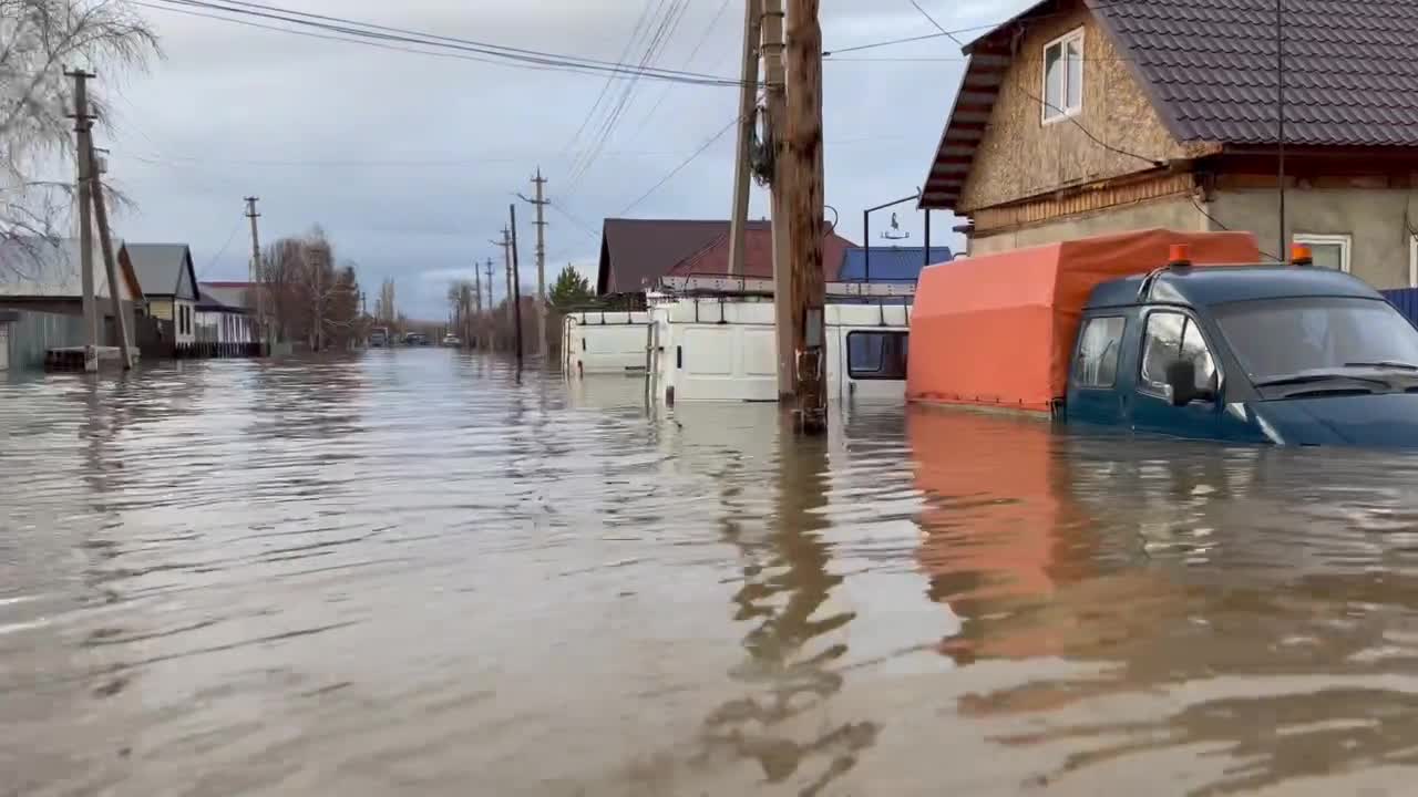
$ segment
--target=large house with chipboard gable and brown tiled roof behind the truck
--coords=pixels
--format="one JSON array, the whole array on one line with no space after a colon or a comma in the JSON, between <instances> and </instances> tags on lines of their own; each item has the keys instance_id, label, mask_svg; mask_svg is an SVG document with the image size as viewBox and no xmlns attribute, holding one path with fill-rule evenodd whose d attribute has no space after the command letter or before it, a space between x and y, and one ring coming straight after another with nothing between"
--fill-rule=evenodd
<instances>
[{"instance_id":1,"label":"large house with chipboard gable and brown tiled roof behind the truck","mask_svg":"<svg viewBox=\"0 0 1418 797\"><path fill-rule=\"evenodd\" d=\"M1418 0L1045 0L964 47L920 204L973 255L1248 230L1418 284L1415 43Z\"/></svg>"}]
</instances>

